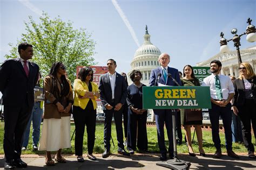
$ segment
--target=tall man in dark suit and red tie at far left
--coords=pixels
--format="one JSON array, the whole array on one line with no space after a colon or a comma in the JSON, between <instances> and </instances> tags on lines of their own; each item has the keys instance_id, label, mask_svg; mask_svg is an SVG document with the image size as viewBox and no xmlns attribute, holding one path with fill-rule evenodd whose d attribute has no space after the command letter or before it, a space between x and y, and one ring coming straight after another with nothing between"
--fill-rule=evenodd
<instances>
[{"instance_id":1,"label":"tall man in dark suit and red tie at far left","mask_svg":"<svg viewBox=\"0 0 256 170\"><path fill-rule=\"evenodd\" d=\"M27 167L21 160L23 133L28 124L34 102L34 88L39 67L30 62L32 45L23 42L18 46L20 58L4 61L0 67L0 90L4 105L5 169Z\"/></svg>"}]
</instances>

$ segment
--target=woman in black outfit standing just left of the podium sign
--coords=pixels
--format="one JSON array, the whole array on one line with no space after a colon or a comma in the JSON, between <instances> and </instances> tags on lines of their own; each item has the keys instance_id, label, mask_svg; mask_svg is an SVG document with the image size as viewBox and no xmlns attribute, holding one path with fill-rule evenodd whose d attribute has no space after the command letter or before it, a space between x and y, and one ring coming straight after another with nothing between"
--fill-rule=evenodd
<instances>
[{"instance_id":1,"label":"woman in black outfit standing just left of the podium sign","mask_svg":"<svg viewBox=\"0 0 256 170\"><path fill-rule=\"evenodd\" d=\"M142 108L142 87L146 86L140 82L142 73L139 70L132 70L130 78L133 83L127 88L127 104L129 108L127 150L133 154L136 151L137 137L138 149L140 151L147 150L147 110Z\"/></svg>"}]
</instances>

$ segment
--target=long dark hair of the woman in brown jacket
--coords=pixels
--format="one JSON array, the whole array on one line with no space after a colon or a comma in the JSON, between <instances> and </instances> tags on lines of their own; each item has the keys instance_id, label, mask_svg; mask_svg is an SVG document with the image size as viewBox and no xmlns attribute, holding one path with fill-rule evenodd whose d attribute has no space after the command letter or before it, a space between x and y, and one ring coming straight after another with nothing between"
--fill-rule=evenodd
<instances>
[{"instance_id":1,"label":"long dark hair of the woman in brown jacket","mask_svg":"<svg viewBox=\"0 0 256 170\"><path fill-rule=\"evenodd\" d=\"M70 91L70 84L69 84L68 80L66 80L66 76L65 75L60 76L60 80L62 81L62 85L63 85L63 90L59 91L58 86L57 86L58 68L62 64L63 64L62 62L54 62L54 63L52 63L52 66L51 66L51 69L50 69L50 73L49 73L49 75L52 76L51 93L56 98L60 97L59 94L61 96L66 96L66 95L69 94L69 91Z\"/></svg>"}]
</instances>

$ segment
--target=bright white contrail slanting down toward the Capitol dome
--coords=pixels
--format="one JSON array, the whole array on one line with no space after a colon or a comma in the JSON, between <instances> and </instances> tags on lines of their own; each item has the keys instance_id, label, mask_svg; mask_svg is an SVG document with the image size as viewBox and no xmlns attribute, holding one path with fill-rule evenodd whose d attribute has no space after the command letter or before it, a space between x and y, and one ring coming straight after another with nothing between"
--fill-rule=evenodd
<instances>
[{"instance_id":1,"label":"bright white contrail slanting down toward the Capitol dome","mask_svg":"<svg viewBox=\"0 0 256 170\"><path fill-rule=\"evenodd\" d=\"M137 46L139 47L139 40L131 26L131 24L129 23L129 20L126 18L126 16L124 15L123 10L120 8L120 6L118 5L116 0L112 0L112 3L114 5L114 8L117 9L117 12L119 13L120 17L123 19L123 22L125 23L125 25L127 26L127 29L130 31L133 40L136 42Z\"/></svg>"}]
</instances>

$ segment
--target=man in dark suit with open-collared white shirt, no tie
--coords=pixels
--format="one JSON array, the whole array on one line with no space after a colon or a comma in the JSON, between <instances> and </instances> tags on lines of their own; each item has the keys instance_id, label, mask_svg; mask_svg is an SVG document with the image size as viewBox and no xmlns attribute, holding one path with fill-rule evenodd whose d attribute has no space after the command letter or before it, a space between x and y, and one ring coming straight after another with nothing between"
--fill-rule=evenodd
<instances>
[{"instance_id":1,"label":"man in dark suit with open-collared white shirt, no tie","mask_svg":"<svg viewBox=\"0 0 256 170\"><path fill-rule=\"evenodd\" d=\"M123 104L126 102L127 87L125 79L116 72L116 61L107 60L107 69L109 73L103 74L99 78L99 94L103 104L105 113L104 122L104 145L105 151L103 158L110 155L110 138L111 138L111 122L114 115L114 123L116 124L118 153L130 156L130 153L124 150L124 136L122 127Z\"/></svg>"}]
</instances>

